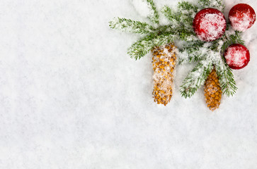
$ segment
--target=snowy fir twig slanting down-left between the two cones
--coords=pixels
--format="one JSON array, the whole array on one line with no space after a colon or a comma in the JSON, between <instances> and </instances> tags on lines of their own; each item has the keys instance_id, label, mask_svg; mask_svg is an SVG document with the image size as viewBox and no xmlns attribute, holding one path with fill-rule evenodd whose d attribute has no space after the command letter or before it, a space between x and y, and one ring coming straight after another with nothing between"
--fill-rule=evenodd
<instances>
[{"instance_id":1,"label":"snowy fir twig slanting down-left between the two cones","mask_svg":"<svg viewBox=\"0 0 257 169\"><path fill-rule=\"evenodd\" d=\"M193 96L200 86L205 83L207 75L209 75L212 68L212 62L206 63L205 61L200 61L188 76L185 77L180 89L181 95L185 98Z\"/></svg>"}]
</instances>

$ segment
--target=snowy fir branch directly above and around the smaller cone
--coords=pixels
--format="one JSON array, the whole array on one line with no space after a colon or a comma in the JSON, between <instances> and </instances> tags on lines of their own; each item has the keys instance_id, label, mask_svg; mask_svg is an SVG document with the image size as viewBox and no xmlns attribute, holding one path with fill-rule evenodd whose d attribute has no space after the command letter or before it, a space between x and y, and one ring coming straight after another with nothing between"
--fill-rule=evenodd
<instances>
[{"instance_id":1,"label":"snowy fir branch directly above and around the smaller cone","mask_svg":"<svg viewBox=\"0 0 257 169\"><path fill-rule=\"evenodd\" d=\"M208 43L195 41L186 44L185 48L181 49L178 55L180 56L179 63L198 62L183 81L180 89L182 96L185 98L193 96L205 83L207 75L212 71L213 66L215 66L217 70L219 82L221 83L224 94L232 96L236 92L236 82L232 70L224 63L221 55L222 49L230 40L231 39L225 38L225 42L219 39L215 42Z\"/></svg>"}]
</instances>

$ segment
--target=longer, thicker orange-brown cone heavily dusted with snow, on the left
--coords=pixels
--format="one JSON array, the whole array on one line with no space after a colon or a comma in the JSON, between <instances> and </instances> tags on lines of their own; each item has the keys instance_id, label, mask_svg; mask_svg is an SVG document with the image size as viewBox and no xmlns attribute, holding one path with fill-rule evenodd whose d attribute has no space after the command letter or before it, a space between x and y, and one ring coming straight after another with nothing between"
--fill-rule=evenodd
<instances>
[{"instance_id":1,"label":"longer, thicker orange-brown cone heavily dusted with snow, on the left","mask_svg":"<svg viewBox=\"0 0 257 169\"><path fill-rule=\"evenodd\" d=\"M176 66L177 48L173 44L156 46L152 49L154 69L154 101L166 104L171 101L173 93L174 69Z\"/></svg>"}]
</instances>

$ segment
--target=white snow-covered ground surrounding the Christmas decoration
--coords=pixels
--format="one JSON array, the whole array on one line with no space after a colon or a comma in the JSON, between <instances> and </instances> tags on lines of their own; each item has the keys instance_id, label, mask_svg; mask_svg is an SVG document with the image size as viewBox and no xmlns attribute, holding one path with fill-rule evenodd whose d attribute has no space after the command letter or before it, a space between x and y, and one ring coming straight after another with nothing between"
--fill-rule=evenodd
<instances>
[{"instance_id":1,"label":"white snow-covered ground surrounding the Christmas decoration","mask_svg":"<svg viewBox=\"0 0 257 169\"><path fill-rule=\"evenodd\" d=\"M203 89L183 99L193 65L178 65L164 107L152 99L151 57L127 55L137 35L108 27L115 16L147 21L135 1L0 1L0 168L256 168L257 23L234 97L215 112ZM255 0L226 0L226 17L237 3L257 11Z\"/></svg>"}]
</instances>

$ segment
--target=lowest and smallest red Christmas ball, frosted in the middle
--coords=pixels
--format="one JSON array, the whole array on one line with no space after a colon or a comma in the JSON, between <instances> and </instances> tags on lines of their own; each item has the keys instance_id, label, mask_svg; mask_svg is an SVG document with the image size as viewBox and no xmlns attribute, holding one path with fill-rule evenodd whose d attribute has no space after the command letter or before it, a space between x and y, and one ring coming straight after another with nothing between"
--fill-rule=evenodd
<instances>
[{"instance_id":1,"label":"lowest and smallest red Christmas ball, frosted in the middle","mask_svg":"<svg viewBox=\"0 0 257 169\"><path fill-rule=\"evenodd\" d=\"M242 44L232 44L225 50L224 58L230 68L241 69L249 63L250 52Z\"/></svg>"}]
</instances>

